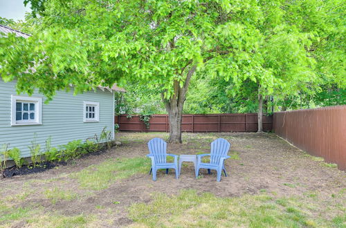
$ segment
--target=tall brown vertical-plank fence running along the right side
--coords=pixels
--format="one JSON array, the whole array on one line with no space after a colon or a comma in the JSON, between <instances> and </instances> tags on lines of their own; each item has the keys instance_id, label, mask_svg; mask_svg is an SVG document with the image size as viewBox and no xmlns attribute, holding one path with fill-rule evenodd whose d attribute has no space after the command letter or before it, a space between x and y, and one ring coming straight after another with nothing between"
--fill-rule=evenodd
<instances>
[{"instance_id":1,"label":"tall brown vertical-plank fence running along the right side","mask_svg":"<svg viewBox=\"0 0 346 228\"><path fill-rule=\"evenodd\" d=\"M274 132L311 155L346 170L346 106L274 113Z\"/></svg>"}]
</instances>

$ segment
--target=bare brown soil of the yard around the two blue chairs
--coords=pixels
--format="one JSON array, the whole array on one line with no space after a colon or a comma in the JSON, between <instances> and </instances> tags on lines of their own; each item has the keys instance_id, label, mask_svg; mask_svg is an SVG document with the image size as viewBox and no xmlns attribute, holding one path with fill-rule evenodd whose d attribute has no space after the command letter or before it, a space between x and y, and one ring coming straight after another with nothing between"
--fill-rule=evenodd
<instances>
[{"instance_id":1,"label":"bare brown soil of the yard around the two blue chairs","mask_svg":"<svg viewBox=\"0 0 346 228\"><path fill-rule=\"evenodd\" d=\"M71 173L112 158L144 157L148 153L147 141L152 137L167 139L168 135L119 133L117 137L122 146L104 153L73 160L66 166L55 167L43 173L0 180L1 198L27 191L25 200L14 201L13 207L43 207L45 211L57 211L66 216L92 214L98 218L95 226L118 227L131 224L127 208L135 202L150 202L153 192L170 195L181 189L196 189L221 197L236 197L245 193L257 194L265 189L275 192L277 196L318 192L322 198L329 199L332 194L346 188L345 172L326 167L271 133L185 133L183 144L167 146L167 153L178 155L208 153L212 140L217 137L226 138L232 144L229 154L237 154L239 160L226 160L228 177L223 175L221 182L216 182L215 171L208 175L208 171L203 169L200 171L201 178L196 179L193 164L185 162L178 180L175 179L174 171L166 175L162 170L158 171L154 182L148 167L148 173L119 180L104 190L90 191L81 188L78 181L71 178ZM78 193L78 198L71 201L59 200L53 204L43 193L45 189L53 187ZM113 203L115 201L119 203ZM321 207L327 207L324 203L327 204L328 201L321 202Z\"/></svg>"}]
</instances>

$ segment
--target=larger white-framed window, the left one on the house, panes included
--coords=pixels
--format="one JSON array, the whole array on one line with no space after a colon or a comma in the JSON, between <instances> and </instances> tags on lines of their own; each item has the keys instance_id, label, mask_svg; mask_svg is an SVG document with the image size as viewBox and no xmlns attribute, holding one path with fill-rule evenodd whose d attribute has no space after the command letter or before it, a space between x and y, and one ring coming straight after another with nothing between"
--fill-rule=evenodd
<instances>
[{"instance_id":1,"label":"larger white-framed window, the left one on the house, panes included","mask_svg":"<svg viewBox=\"0 0 346 228\"><path fill-rule=\"evenodd\" d=\"M12 95L11 125L42 124L42 98Z\"/></svg>"}]
</instances>

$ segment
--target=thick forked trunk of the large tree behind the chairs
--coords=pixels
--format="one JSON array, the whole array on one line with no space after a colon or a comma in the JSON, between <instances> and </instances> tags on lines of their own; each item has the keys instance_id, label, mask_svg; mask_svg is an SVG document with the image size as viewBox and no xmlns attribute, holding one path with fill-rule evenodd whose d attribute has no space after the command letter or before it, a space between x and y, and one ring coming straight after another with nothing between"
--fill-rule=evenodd
<instances>
[{"instance_id":1,"label":"thick forked trunk of the large tree behind the chairs","mask_svg":"<svg viewBox=\"0 0 346 228\"><path fill-rule=\"evenodd\" d=\"M196 70L196 66L192 66L188 71L183 87L180 86L179 81L174 81L174 94L169 99L166 99L164 94L163 103L165 104L170 122L170 138L169 143L182 143L181 140L181 118L183 116L183 105L186 98L186 92L190 84L190 79Z\"/></svg>"}]
</instances>

